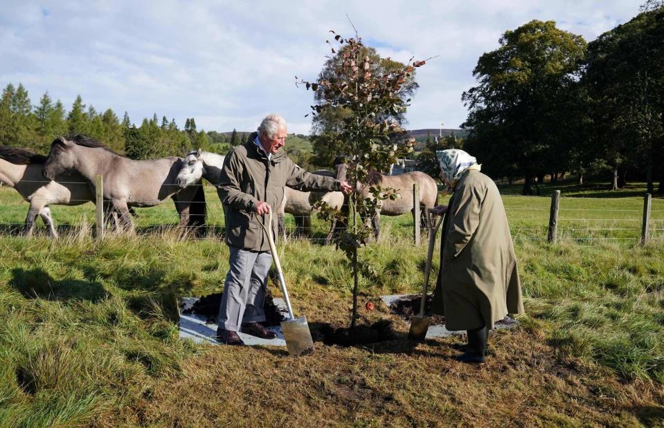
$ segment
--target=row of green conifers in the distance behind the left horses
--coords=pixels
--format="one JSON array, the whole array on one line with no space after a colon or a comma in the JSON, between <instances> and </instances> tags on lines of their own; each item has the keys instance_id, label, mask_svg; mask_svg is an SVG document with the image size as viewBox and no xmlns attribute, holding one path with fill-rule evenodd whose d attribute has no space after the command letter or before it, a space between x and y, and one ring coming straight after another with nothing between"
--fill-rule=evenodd
<instances>
[{"instance_id":1,"label":"row of green conifers in the distance behind the left horses","mask_svg":"<svg viewBox=\"0 0 664 428\"><path fill-rule=\"evenodd\" d=\"M192 148L226 154L231 146L246 141L246 135L231 136L217 131L198 131L195 118L187 118L184 129L165 116L144 118L140 126L125 111L118 115L107 109L99 113L84 104L78 95L66 111L60 100L53 100L48 91L33 105L28 91L19 83L9 83L0 98L0 145L24 147L46 153L56 136L81 133L104 142L114 151L132 159L182 156Z\"/></svg>"}]
</instances>

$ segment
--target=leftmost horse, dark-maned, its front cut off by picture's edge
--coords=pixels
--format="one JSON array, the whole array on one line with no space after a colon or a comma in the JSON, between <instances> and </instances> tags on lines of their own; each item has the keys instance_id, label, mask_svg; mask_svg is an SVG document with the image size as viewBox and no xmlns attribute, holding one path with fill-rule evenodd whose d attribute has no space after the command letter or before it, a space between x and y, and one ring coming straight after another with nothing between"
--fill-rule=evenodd
<instances>
[{"instance_id":1,"label":"leftmost horse, dark-maned, its front cut off by picture's edge","mask_svg":"<svg viewBox=\"0 0 664 428\"><path fill-rule=\"evenodd\" d=\"M53 238L57 238L55 222L48 205L82 205L94 202L94 195L84 178L78 174L55 176L46 181L42 167L46 156L16 147L0 146L0 183L15 189L30 203L26 216L26 234L33 234L37 216Z\"/></svg>"}]
</instances>

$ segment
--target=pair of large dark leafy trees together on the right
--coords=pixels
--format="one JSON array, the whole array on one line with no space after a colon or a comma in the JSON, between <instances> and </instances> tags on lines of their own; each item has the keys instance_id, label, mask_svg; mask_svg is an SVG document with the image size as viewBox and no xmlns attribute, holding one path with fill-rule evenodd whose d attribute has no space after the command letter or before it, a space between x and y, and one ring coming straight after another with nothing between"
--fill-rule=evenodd
<instances>
[{"instance_id":1,"label":"pair of large dark leafy trees together on the right","mask_svg":"<svg viewBox=\"0 0 664 428\"><path fill-rule=\"evenodd\" d=\"M554 21L506 31L478 59L464 147L494 178L611 176L664 193L664 2L586 43Z\"/></svg>"}]
</instances>

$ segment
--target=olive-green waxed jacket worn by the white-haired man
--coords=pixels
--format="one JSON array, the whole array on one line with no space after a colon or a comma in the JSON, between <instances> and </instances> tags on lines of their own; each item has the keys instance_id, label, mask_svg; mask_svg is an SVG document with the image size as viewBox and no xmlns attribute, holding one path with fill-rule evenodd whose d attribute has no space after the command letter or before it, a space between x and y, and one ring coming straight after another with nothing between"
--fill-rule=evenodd
<instances>
[{"instance_id":1,"label":"olive-green waxed jacket worn by the white-haired man","mask_svg":"<svg viewBox=\"0 0 664 428\"><path fill-rule=\"evenodd\" d=\"M339 180L309 174L286 156L283 150L268 160L255 145L256 133L246 144L235 147L224 160L217 193L224 204L226 243L231 247L252 251L269 251L269 243L260 223L269 230L268 216L255 214L255 203L267 202L272 210L284 197L284 186L303 192L338 191ZM278 236L276 214L273 212L273 236Z\"/></svg>"}]
</instances>

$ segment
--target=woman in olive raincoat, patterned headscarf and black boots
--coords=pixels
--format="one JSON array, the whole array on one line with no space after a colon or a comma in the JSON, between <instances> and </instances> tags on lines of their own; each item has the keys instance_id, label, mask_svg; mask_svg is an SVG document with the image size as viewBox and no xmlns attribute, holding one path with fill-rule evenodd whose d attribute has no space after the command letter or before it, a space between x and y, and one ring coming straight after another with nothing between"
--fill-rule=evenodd
<instances>
[{"instance_id":1,"label":"woman in olive raincoat, patterned headscarf and black boots","mask_svg":"<svg viewBox=\"0 0 664 428\"><path fill-rule=\"evenodd\" d=\"M465 330L463 362L483 362L489 330L508 313L523 313L517 257L503 201L493 180L463 150L437 151L440 178L452 194L440 244L433 313L450 331Z\"/></svg>"}]
</instances>

